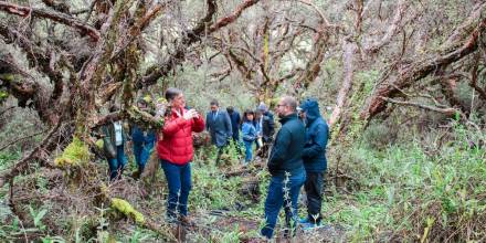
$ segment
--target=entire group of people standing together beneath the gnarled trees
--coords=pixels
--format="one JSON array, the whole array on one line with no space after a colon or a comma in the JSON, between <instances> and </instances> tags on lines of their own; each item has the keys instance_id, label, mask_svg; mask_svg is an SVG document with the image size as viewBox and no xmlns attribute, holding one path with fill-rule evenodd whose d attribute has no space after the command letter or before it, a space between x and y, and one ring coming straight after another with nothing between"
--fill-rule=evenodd
<instances>
[{"instance_id":1,"label":"entire group of people standing together beneath the gnarled trees","mask_svg":"<svg viewBox=\"0 0 486 243\"><path fill-rule=\"evenodd\" d=\"M267 239L273 236L282 208L285 210L286 229L293 229L297 223L306 226L320 224L329 129L316 99L305 99L297 106L294 97L282 97L275 107L282 127L274 138L274 115L264 104L260 104L256 110L245 110L241 117L233 107L223 110L216 101L212 101L204 122L196 109L186 106L186 98L180 89L168 88L165 97L171 110L166 113L165 125L157 133L157 137L155 131L147 133L137 127L131 128L130 134L134 152L138 151L135 158L139 170L144 169L154 144L157 144L157 154L169 188L169 221L191 224L188 218L188 199L192 188L192 133L201 133L205 128L218 148L216 163L231 140L239 147L240 130L246 162L252 160L254 144L260 152L270 150L267 168L272 178L265 200L265 225L261 231L262 235ZM144 107L144 104L139 105ZM126 138L119 124L114 123L103 129L106 131L104 140L115 145L112 146L115 155L108 158L108 165L110 179L116 179L126 165L123 155ZM136 149L135 141L141 144L141 147ZM307 196L307 216L299 220L298 196L303 186Z\"/></svg>"}]
</instances>

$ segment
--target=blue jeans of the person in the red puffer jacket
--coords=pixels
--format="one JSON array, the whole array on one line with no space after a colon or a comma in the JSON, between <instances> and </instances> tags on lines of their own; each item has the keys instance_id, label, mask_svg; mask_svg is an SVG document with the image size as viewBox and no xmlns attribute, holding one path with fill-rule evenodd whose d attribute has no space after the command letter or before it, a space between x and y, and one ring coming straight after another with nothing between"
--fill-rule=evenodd
<instances>
[{"instance_id":1,"label":"blue jeans of the person in the red puffer jacket","mask_svg":"<svg viewBox=\"0 0 486 243\"><path fill-rule=\"evenodd\" d=\"M167 160L160 160L163 173L169 184L169 197L167 199L167 216L177 218L188 215L188 198L191 190L191 163L183 166L171 163ZM176 211L177 210L177 211Z\"/></svg>"}]
</instances>

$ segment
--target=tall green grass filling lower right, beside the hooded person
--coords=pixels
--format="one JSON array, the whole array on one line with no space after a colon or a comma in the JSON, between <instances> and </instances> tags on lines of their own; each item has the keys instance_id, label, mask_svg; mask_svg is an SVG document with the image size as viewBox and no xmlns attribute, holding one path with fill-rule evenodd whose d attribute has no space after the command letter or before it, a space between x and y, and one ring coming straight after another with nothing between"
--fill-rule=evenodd
<instances>
[{"instance_id":1,"label":"tall green grass filling lower right, beside the hooded person","mask_svg":"<svg viewBox=\"0 0 486 243\"><path fill-rule=\"evenodd\" d=\"M415 135L380 151L353 148L348 166L359 189L328 197L328 221L353 241L484 241L486 135L457 124L450 133L443 145Z\"/></svg>"}]
</instances>

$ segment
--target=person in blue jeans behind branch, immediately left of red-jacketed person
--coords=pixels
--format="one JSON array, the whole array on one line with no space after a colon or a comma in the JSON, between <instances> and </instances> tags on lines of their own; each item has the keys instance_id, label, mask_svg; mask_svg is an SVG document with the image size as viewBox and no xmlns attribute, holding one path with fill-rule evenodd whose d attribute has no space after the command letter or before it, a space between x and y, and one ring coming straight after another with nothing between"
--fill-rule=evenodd
<instances>
[{"instance_id":1,"label":"person in blue jeans behind branch, immediately left of red-jacketed person","mask_svg":"<svg viewBox=\"0 0 486 243\"><path fill-rule=\"evenodd\" d=\"M147 98L139 98L137 101L137 105L142 112L154 113L149 110ZM129 134L134 147L135 161L137 162L138 167L135 178L138 178L144 172L145 165L147 163L147 160L152 151L156 142L156 131L152 129L142 128L136 124L131 124Z\"/></svg>"}]
</instances>

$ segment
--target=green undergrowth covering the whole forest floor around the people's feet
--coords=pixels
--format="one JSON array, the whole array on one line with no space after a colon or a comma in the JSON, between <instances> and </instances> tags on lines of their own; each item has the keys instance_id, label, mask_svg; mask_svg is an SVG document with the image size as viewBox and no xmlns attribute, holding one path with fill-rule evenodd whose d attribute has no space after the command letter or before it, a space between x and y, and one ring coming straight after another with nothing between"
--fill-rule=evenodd
<instances>
[{"instance_id":1,"label":"green undergrowth covering the whole forest floor around the people's feet","mask_svg":"<svg viewBox=\"0 0 486 243\"><path fill-rule=\"evenodd\" d=\"M341 229L341 233L330 237L307 232L298 237L352 242L480 242L486 237L484 133L450 122L448 126L433 128L426 135L414 131L381 148L368 142L373 136L383 135L367 133L347 152L344 184L336 183L338 178L330 159L324 222ZM1 154L0 158L4 167L19 156ZM268 173L256 167L255 173L228 177L228 171L240 168L234 146L221 166L215 166L214 159L214 149L202 148L192 163L189 211L198 230L189 232L187 241L240 242L257 237ZM133 163L129 170L135 169ZM170 234L170 230L165 224L167 186L162 172L157 173L149 188L129 176L108 184L105 162L95 161L94 166L96 170L83 176L97 177L91 181L99 184L73 187L61 170L39 168L15 179L14 194L7 187L1 189L0 221L4 223L0 237L43 242L163 242L163 234ZM240 190L249 179L260 182L256 202ZM123 199L122 208L129 209L125 213L133 215L117 212L114 209L117 207L112 207L114 201L110 205L103 197ZM305 197L300 202L302 216L304 200ZM162 233L140 225L141 219L156 222Z\"/></svg>"}]
</instances>

